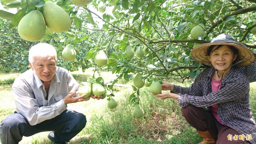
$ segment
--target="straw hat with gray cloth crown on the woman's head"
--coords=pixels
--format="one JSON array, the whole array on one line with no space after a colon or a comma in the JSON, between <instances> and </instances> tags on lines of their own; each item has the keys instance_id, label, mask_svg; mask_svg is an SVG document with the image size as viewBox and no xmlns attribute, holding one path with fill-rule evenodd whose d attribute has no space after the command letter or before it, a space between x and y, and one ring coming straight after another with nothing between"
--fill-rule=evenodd
<instances>
[{"instance_id":1,"label":"straw hat with gray cloth crown on the woman's head","mask_svg":"<svg viewBox=\"0 0 256 144\"><path fill-rule=\"evenodd\" d=\"M236 58L236 67L245 67L252 64L255 60L254 53L248 49L244 44L237 43L233 36L228 34L220 34L219 36L212 39L210 43L202 44L195 47L191 51L191 56L195 60L208 65L212 66L210 60L208 60L208 56L206 54L208 48L211 45L232 45L238 50L237 58Z\"/></svg>"}]
</instances>

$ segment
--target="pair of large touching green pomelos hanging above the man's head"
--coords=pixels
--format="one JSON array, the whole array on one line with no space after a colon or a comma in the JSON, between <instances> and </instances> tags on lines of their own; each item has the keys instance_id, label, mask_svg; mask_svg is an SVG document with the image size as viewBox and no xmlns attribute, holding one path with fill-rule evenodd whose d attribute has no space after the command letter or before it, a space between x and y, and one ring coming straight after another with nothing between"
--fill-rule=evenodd
<instances>
[{"instance_id":1,"label":"pair of large touching green pomelos hanging above the man's head","mask_svg":"<svg viewBox=\"0 0 256 144\"><path fill-rule=\"evenodd\" d=\"M71 26L68 13L52 1L45 2L42 12L33 10L26 14L19 22L18 33L27 41L40 41L46 27L52 32L61 33Z\"/></svg>"}]
</instances>

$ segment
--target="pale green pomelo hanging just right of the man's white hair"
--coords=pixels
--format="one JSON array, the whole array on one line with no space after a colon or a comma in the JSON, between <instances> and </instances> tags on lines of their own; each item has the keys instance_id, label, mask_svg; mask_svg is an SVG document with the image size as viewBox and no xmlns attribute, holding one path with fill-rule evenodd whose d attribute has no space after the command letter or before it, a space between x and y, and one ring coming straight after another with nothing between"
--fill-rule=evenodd
<instances>
[{"instance_id":1,"label":"pale green pomelo hanging just right of the man's white hair","mask_svg":"<svg viewBox=\"0 0 256 144\"><path fill-rule=\"evenodd\" d=\"M76 51L73 45L67 44L61 53L61 57L67 61L73 61L76 59Z\"/></svg>"}]
</instances>

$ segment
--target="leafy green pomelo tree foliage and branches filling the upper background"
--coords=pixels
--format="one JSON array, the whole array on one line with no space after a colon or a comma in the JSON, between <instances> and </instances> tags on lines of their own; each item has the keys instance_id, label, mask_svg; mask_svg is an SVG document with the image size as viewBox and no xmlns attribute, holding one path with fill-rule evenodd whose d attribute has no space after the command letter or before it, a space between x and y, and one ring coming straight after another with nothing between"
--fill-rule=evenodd
<instances>
[{"instance_id":1,"label":"leafy green pomelo tree foliage and branches filling the upper background","mask_svg":"<svg viewBox=\"0 0 256 144\"><path fill-rule=\"evenodd\" d=\"M234 36L253 51L256 49L255 0L88 0L83 6L70 0L52 1L68 13L72 24L60 33L52 32L46 25L46 34L40 42L54 45L59 65L71 71L91 65L100 68L93 58L103 50L108 56L106 66L117 75L112 84L122 78L131 79L138 73L143 74L143 79L150 78L151 83L164 78L180 82L193 78L203 66L191 58L191 50L221 33ZM18 10L15 14L0 11L0 51L6 51L6 54L1 53L1 65L10 69L17 65L17 70L28 68L24 61L29 50L27 45L35 42L22 40L17 34L17 26L29 12L43 12L45 2L21 0L19 4L13 4L14 0L1 0L5 9L15 7ZM75 61L61 58L67 44L75 47ZM143 48L144 56L126 58L131 55L124 53L127 47L131 47L132 52ZM12 64L13 61L16 64ZM139 92L134 86L133 89L135 92L130 100L135 101Z\"/></svg>"}]
</instances>

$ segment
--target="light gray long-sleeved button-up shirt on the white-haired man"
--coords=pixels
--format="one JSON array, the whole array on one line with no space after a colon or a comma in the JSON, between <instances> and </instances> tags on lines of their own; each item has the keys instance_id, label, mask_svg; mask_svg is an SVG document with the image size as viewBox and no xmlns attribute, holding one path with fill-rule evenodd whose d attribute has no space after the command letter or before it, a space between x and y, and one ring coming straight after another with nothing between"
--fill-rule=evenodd
<instances>
[{"instance_id":1,"label":"light gray long-sleeved button-up shirt on the white-haired man","mask_svg":"<svg viewBox=\"0 0 256 144\"><path fill-rule=\"evenodd\" d=\"M70 92L77 91L79 86L66 69L56 67L55 76L51 80L48 92L48 100L45 100L44 84L34 71L29 69L18 76L12 85L14 101L17 106L14 111L21 112L30 125L39 124L66 110L64 97ZM78 93L75 97L77 96Z\"/></svg>"}]
</instances>

